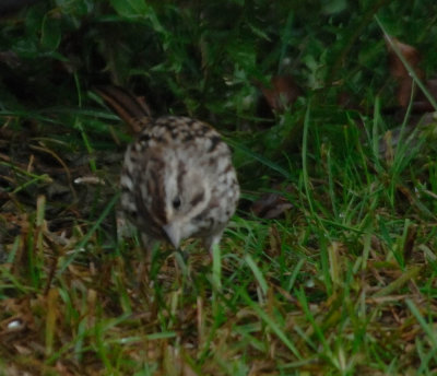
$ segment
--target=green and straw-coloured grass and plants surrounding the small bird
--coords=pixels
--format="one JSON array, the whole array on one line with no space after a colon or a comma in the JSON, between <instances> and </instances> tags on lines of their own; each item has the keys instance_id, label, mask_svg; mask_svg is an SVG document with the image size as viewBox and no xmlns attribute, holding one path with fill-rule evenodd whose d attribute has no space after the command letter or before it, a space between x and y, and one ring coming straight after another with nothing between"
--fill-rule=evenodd
<instances>
[{"instance_id":1,"label":"green and straw-coloured grass and plants surrounding the small bird","mask_svg":"<svg viewBox=\"0 0 437 376\"><path fill-rule=\"evenodd\" d=\"M20 69L38 74L14 77L26 96L1 67L0 375L436 373L435 125L412 128L412 108L387 115L395 89L380 63L386 30L435 46L434 19L421 19L435 5L315 5L321 26L298 4L257 7L74 0L1 26ZM79 64L54 77L44 59ZM304 97L262 113L253 80L291 71ZM188 240L188 258L164 245L145 272L137 235L121 236L129 137L94 81L225 134L243 199L212 265ZM293 208L255 216L265 191Z\"/></svg>"}]
</instances>

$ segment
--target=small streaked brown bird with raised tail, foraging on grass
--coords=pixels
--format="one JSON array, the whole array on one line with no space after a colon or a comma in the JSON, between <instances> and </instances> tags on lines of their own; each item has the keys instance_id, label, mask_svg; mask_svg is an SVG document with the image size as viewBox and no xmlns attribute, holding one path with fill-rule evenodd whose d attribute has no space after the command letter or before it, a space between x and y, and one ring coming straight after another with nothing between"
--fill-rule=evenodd
<instances>
[{"instance_id":1,"label":"small streaked brown bird with raised tail, foraging on grass","mask_svg":"<svg viewBox=\"0 0 437 376\"><path fill-rule=\"evenodd\" d=\"M95 92L132 129L121 171L121 207L150 251L157 240L175 248L196 237L212 254L234 214L239 186L228 145L205 122L150 117L145 104L120 87Z\"/></svg>"}]
</instances>

